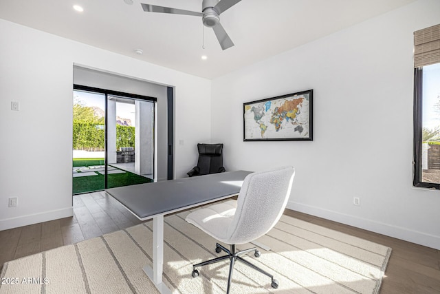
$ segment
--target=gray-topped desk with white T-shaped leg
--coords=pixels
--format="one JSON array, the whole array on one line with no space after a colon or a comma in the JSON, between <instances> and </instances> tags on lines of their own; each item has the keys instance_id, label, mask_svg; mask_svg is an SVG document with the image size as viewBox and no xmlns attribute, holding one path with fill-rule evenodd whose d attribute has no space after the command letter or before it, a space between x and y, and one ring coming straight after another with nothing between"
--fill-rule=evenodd
<instances>
[{"instance_id":1,"label":"gray-topped desk with white T-shaped leg","mask_svg":"<svg viewBox=\"0 0 440 294\"><path fill-rule=\"evenodd\" d=\"M162 282L164 215L237 195L250 173L230 171L106 190L140 220L153 218L153 269L146 265L144 271L160 293L171 293Z\"/></svg>"}]
</instances>

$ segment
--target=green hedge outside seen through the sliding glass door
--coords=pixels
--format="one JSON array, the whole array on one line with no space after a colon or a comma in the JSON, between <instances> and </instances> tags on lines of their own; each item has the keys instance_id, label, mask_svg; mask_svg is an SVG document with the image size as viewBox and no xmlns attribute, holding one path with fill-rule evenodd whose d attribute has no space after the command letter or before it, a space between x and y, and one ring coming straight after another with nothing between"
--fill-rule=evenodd
<instances>
[{"instance_id":1,"label":"green hedge outside seen through the sliding glass door","mask_svg":"<svg viewBox=\"0 0 440 294\"><path fill-rule=\"evenodd\" d=\"M73 148L104 149L104 125L74 120ZM135 147L135 127L116 125L116 148Z\"/></svg>"}]
</instances>

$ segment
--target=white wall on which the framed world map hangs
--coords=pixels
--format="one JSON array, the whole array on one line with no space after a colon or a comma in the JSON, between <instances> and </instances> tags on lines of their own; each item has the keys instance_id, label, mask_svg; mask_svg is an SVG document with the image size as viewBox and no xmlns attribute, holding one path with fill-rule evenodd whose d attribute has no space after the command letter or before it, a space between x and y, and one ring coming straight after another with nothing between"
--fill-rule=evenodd
<instances>
[{"instance_id":1,"label":"white wall on which the framed world map hangs","mask_svg":"<svg viewBox=\"0 0 440 294\"><path fill-rule=\"evenodd\" d=\"M412 187L412 33L439 15L417 1L214 79L225 168L293 165L289 208L440 249L440 193ZM243 142L243 103L309 89L313 142Z\"/></svg>"}]
</instances>

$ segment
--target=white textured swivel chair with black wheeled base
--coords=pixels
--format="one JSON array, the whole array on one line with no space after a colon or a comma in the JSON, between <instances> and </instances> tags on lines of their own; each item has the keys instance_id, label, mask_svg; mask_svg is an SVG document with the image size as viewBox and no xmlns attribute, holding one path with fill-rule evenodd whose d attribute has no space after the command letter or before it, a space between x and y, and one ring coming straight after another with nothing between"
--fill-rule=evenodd
<instances>
[{"instance_id":1,"label":"white textured swivel chair with black wheeled base","mask_svg":"<svg viewBox=\"0 0 440 294\"><path fill-rule=\"evenodd\" d=\"M295 176L293 167L282 167L271 171L249 174L241 187L239 198L213 204L188 214L186 221L211 235L213 238L230 244L230 250L216 244L215 251L222 250L228 255L214 258L192 266L192 277L197 277L199 266L213 264L221 260L230 260L228 288L229 293L234 262L239 260L247 266L271 278L271 286L278 288L278 281L263 269L241 258L240 255L254 251L255 257L260 256L256 247L236 252L236 244L244 244L260 238L274 227L281 218L292 189Z\"/></svg>"}]
</instances>

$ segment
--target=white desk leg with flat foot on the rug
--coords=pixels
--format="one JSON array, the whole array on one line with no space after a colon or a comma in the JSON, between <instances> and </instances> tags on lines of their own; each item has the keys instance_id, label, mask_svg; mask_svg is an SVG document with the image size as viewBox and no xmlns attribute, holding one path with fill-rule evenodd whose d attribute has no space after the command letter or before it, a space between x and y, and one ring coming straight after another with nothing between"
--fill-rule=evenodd
<instances>
[{"instance_id":1,"label":"white desk leg with flat foot on the rug","mask_svg":"<svg viewBox=\"0 0 440 294\"><path fill-rule=\"evenodd\" d=\"M153 269L144 266L144 272L153 281L162 294L171 294L170 289L162 282L164 271L164 216L153 218Z\"/></svg>"}]
</instances>

